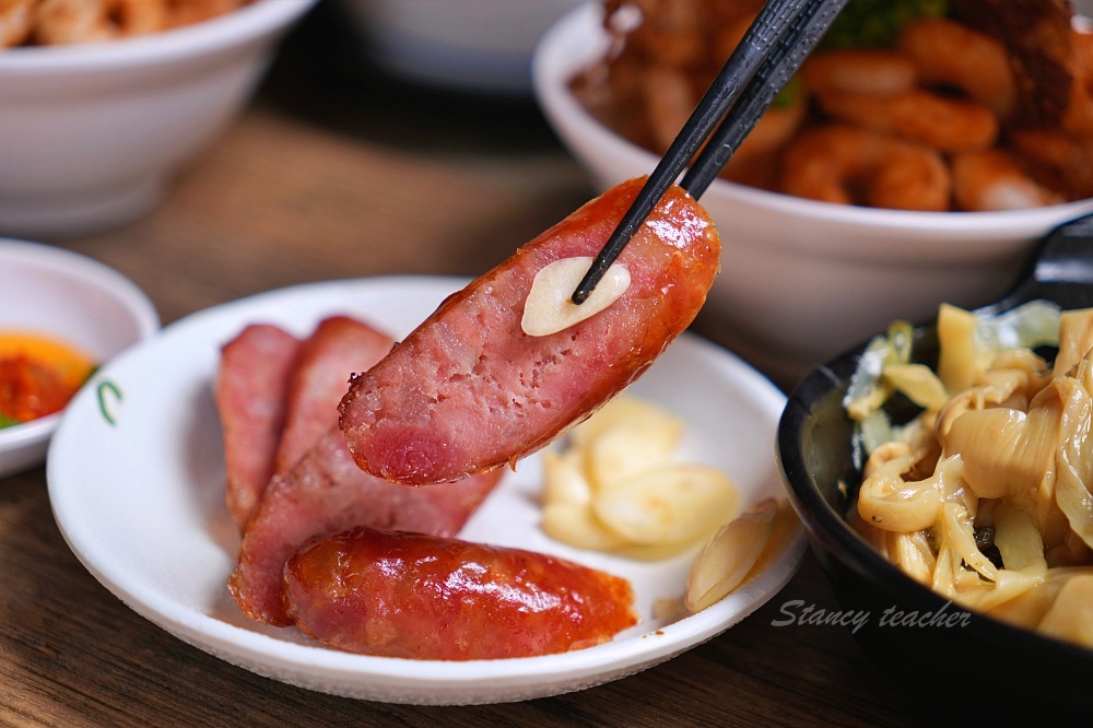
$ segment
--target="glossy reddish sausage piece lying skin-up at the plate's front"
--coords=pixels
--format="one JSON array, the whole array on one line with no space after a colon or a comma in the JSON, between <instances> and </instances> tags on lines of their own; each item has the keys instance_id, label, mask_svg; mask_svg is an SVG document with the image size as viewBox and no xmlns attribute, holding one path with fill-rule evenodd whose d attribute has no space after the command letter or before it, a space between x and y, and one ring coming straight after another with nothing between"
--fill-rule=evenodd
<instances>
[{"instance_id":1,"label":"glossy reddish sausage piece lying skin-up at the plate's front","mask_svg":"<svg viewBox=\"0 0 1093 728\"><path fill-rule=\"evenodd\" d=\"M341 649L470 660L564 653L637 622L622 578L540 553L355 528L285 565L296 625Z\"/></svg>"}]
</instances>

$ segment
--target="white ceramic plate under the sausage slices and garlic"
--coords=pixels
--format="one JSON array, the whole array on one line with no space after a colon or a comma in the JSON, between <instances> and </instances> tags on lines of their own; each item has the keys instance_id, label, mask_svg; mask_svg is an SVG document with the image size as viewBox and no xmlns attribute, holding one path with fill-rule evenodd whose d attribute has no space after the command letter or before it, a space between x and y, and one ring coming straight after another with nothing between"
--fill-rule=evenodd
<instances>
[{"instance_id":1,"label":"white ceramic plate under the sausage slices and garlic","mask_svg":"<svg viewBox=\"0 0 1093 728\"><path fill-rule=\"evenodd\" d=\"M212 396L219 348L247 324L303 336L333 313L404 336L462 283L378 278L273 291L195 314L116 359L69 407L49 451L49 495L73 552L137 612L212 655L312 690L419 704L517 701L622 678L719 634L789 580L802 531L739 592L692 617L655 619L655 600L682 596L692 554L637 562L552 541L538 526L541 460L532 456L506 473L461 536L627 577L642 623L613 642L533 658L415 661L329 649L295 629L243 617L225 586L238 536L223 503ZM114 392L105 404L113 424L94 396L98 387ZM721 467L749 502L781 494L774 437L785 398L731 354L684 334L633 391L686 419L682 457Z\"/></svg>"}]
</instances>

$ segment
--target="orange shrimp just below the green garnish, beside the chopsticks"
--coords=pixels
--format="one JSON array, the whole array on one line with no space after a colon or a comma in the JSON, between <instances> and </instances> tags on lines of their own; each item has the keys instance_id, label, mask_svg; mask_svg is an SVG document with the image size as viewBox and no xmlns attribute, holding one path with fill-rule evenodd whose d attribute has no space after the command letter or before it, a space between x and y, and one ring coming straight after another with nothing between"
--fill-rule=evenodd
<instances>
[{"instance_id":1,"label":"orange shrimp just below the green garnish, beside the chopsticks","mask_svg":"<svg viewBox=\"0 0 1093 728\"><path fill-rule=\"evenodd\" d=\"M914 59L896 50L841 48L811 56L799 71L815 93L896 94L918 85Z\"/></svg>"}]
</instances>

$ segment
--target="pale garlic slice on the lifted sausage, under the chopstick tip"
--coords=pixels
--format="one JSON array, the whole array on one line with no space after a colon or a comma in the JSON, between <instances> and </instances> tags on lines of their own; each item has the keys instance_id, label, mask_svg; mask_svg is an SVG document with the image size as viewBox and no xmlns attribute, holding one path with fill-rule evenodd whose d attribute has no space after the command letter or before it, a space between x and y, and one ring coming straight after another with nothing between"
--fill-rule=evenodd
<instances>
[{"instance_id":1,"label":"pale garlic slice on the lifted sausage, under the chopstick tip","mask_svg":"<svg viewBox=\"0 0 1093 728\"><path fill-rule=\"evenodd\" d=\"M600 313L630 287L630 271L612 263L579 306L571 297L592 265L591 257L563 258L544 266L531 282L520 326L530 337L556 333Z\"/></svg>"}]
</instances>

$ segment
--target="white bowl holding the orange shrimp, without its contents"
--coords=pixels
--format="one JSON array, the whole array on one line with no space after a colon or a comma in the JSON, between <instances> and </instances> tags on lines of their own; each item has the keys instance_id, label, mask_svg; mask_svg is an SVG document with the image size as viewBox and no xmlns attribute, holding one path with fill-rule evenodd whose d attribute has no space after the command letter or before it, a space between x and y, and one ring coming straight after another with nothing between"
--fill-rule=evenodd
<instances>
[{"instance_id":1,"label":"white bowl holding the orange shrimp, without its contents","mask_svg":"<svg viewBox=\"0 0 1093 728\"><path fill-rule=\"evenodd\" d=\"M658 158L593 119L567 82L607 43L598 3L543 36L532 78L562 141L608 188ZM941 302L975 306L1004 293L1035 242L1093 200L1007 212L902 212L815 202L718 179L702 196L721 233L721 273L704 314L719 338L778 378L883 330L921 321Z\"/></svg>"}]
</instances>

